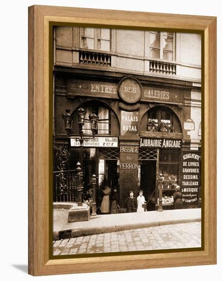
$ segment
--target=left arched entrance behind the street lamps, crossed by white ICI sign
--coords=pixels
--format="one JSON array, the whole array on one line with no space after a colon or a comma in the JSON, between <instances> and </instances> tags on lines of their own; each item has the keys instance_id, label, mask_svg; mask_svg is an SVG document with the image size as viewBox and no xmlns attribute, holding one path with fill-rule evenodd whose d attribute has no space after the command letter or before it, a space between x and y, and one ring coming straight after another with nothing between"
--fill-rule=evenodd
<instances>
[{"instance_id":1,"label":"left arched entrance behind the street lamps, crossed by white ICI sign","mask_svg":"<svg viewBox=\"0 0 222 281\"><path fill-rule=\"evenodd\" d=\"M96 192L96 203L100 206L103 193L100 189L108 184L112 189L118 186L119 165L119 121L115 112L106 104L98 100L87 101L79 107L86 110L83 131L86 135L91 134L89 115L95 113L98 116L98 129L95 137L83 144L83 148L71 147L70 166L75 167L76 162L82 159L84 176L84 200L90 200L91 178L95 174L98 190ZM78 108L78 107L77 107ZM76 110L73 111L73 132L78 135L78 123ZM81 154L81 157L80 157Z\"/></svg>"}]
</instances>

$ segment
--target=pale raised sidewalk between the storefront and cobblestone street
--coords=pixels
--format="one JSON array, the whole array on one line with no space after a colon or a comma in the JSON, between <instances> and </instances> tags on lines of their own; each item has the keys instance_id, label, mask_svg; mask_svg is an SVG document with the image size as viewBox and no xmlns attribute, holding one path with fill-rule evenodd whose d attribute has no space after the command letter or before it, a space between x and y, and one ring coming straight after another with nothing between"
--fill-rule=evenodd
<instances>
[{"instance_id":1,"label":"pale raised sidewalk between the storefront and cobblestone street","mask_svg":"<svg viewBox=\"0 0 222 281\"><path fill-rule=\"evenodd\" d=\"M68 210L53 210L53 240L116 232L158 225L201 221L201 209L176 209L144 213L98 215L89 221L66 223Z\"/></svg>"}]
</instances>

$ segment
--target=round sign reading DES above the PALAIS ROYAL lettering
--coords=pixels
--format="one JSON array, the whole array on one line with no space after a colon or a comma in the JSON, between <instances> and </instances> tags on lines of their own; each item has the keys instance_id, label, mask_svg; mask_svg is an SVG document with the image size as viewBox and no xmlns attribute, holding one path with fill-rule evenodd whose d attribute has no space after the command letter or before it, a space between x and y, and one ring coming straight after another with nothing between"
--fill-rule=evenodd
<instances>
[{"instance_id":1,"label":"round sign reading DES above the PALAIS ROYAL lettering","mask_svg":"<svg viewBox=\"0 0 222 281\"><path fill-rule=\"evenodd\" d=\"M142 85L134 77L124 77L119 82L118 94L126 103L136 103L142 96Z\"/></svg>"}]
</instances>

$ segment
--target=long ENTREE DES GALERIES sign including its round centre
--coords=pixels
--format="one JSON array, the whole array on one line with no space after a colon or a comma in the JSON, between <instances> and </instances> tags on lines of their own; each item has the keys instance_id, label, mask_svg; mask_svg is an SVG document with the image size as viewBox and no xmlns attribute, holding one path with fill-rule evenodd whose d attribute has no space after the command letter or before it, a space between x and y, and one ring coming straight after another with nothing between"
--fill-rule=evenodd
<instances>
[{"instance_id":1,"label":"long ENTREE DES GALERIES sign including its round centre","mask_svg":"<svg viewBox=\"0 0 222 281\"><path fill-rule=\"evenodd\" d=\"M104 81L70 79L67 85L67 95L91 96L108 99L122 99L133 104L141 101L184 102L184 91L159 87L141 86L131 77L124 78L119 84Z\"/></svg>"}]
</instances>

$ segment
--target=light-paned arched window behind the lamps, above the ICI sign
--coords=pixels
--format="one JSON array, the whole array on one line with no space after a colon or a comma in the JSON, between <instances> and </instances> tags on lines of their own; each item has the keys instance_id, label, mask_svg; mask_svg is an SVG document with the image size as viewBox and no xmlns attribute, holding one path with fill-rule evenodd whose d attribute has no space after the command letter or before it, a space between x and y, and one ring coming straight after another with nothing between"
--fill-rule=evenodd
<instances>
[{"instance_id":1,"label":"light-paned arched window behind the lamps, above the ICI sign","mask_svg":"<svg viewBox=\"0 0 222 281\"><path fill-rule=\"evenodd\" d=\"M86 134L91 134L91 124L89 115L95 113L98 116L98 130L96 134L110 134L110 111L102 106L88 106L86 109L86 118L83 131Z\"/></svg>"}]
</instances>

